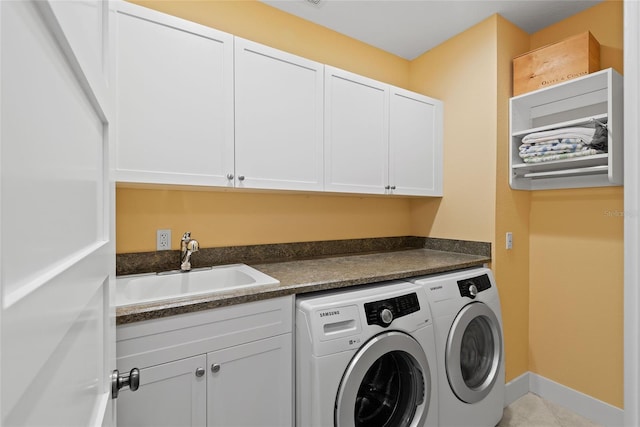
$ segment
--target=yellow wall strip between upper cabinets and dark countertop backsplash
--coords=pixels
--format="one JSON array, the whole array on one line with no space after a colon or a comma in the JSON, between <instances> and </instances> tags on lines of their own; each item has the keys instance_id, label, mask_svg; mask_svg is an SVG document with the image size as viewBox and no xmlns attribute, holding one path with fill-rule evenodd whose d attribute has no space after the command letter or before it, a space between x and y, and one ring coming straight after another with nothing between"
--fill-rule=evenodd
<instances>
[{"instance_id":1,"label":"yellow wall strip between upper cabinets and dark countertop backsplash","mask_svg":"<svg viewBox=\"0 0 640 427\"><path fill-rule=\"evenodd\" d=\"M118 253L155 250L168 228L172 247L191 231L201 247L407 236L405 198L119 189Z\"/></svg>"}]
</instances>

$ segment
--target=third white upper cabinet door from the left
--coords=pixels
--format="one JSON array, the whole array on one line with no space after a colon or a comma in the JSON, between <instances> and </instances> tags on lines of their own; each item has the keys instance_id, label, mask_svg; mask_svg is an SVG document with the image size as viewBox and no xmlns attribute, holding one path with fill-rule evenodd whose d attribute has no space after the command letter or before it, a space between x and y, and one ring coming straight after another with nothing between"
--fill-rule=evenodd
<instances>
[{"instance_id":1,"label":"third white upper cabinet door from the left","mask_svg":"<svg viewBox=\"0 0 640 427\"><path fill-rule=\"evenodd\" d=\"M384 194L389 85L325 66L325 190Z\"/></svg>"}]
</instances>

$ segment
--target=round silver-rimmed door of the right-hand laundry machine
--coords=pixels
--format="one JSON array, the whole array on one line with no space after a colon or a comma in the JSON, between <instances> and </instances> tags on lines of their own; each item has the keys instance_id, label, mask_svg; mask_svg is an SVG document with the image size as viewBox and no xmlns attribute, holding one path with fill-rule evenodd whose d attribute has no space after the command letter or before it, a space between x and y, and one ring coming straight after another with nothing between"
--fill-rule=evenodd
<instances>
[{"instance_id":1,"label":"round silver-rimmed door of the right-hand laundry machine","mask_svg":"<svg viewBox=\"0 0 640 427\"><path fill-rule=\"evenodd\" d=\"M484 399L498 376L502 334L495 313L485 304L466 305L454 320L446 349L449 385L467 403Z\"/></svg>"}]
</instances>

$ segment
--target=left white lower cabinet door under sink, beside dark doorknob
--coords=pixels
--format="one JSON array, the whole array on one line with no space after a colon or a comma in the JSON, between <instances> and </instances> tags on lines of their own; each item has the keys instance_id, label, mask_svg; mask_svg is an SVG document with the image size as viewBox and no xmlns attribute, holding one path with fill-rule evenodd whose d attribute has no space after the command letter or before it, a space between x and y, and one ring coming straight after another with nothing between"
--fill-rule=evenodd
<instances>
[{"instance_id":1,"label":"left white lower cabinet door under sink, beside dark doorknob","mask_svg":"<svg viewBox=\"0 0 640 427\"><path fill-rule=\"evenodd\" d=\"M204 354L140 369L140 387L120 391L118 426L205 426Z\"/></svg>"}]
</instances>

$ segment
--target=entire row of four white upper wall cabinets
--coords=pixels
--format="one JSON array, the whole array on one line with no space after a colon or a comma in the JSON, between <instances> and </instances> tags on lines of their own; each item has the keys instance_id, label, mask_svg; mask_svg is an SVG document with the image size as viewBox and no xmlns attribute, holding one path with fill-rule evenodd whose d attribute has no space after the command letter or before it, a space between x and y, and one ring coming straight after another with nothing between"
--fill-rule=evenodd
<instances>
[{"instance_id":1,"label":"entire row of four white upper wall cabinets","mask_svg":"<svg viewBox=\"0 0 640 427\"><path fill-rule=\"evenodd\" d=\"M442 103L116 3L119 182L442 195Z\"/></svg>"}]
</instances>

